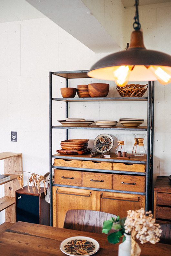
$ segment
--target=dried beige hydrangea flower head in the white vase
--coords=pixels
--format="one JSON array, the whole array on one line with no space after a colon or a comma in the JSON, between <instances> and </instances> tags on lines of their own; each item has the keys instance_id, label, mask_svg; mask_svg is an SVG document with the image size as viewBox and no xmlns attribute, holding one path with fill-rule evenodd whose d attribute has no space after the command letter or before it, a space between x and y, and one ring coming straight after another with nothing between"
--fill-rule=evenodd
<instances>
[{"instance_id":1,"label":"dried beige hydrangea flower head in the white vase","mask_svg":"<svg viewBox=\"0 0 171 256\"><path fill-rule=\"evenodd\" d=\"M133 239L139 239L140 242L157 243L160 240L162 230L160 225L155 223L151 211L146 212L143 208L136 211L127 211L125 220L125 233L130 233Z\"/></svg>"}]
</instances>

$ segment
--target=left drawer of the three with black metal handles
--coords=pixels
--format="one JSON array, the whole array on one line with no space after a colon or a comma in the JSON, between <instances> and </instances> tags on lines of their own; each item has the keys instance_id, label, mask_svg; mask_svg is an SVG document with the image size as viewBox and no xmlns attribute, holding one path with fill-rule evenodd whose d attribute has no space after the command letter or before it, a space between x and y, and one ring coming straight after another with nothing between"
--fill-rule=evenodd
<instances>
[{"instance_id":1,"label":"left drawer of the three with black metal handles","mask_svg":"<svg viewBox=\"0 0 171 256\"><path fill-rule=\"evenodd\" d=\"M61 185L82 186L82 172L55 169L54 183Z\"/></svg>"}]
</instances>

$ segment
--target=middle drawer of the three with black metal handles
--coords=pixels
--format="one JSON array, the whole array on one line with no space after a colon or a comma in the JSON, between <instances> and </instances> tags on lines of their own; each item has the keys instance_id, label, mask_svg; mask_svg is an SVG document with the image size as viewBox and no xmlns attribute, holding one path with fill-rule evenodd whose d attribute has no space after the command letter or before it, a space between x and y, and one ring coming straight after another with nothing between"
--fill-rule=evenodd
<instances>
[{"instance_id":1,"label":"middle drawer of the three with black metal handles","mask_svg":"<svg viewBox=\"0 0 171 256\"><path fill-rule=\"evenodd\" d=\"M83 172L83 187L112 189L112 174Z\"/></svg>"}]
</instances>

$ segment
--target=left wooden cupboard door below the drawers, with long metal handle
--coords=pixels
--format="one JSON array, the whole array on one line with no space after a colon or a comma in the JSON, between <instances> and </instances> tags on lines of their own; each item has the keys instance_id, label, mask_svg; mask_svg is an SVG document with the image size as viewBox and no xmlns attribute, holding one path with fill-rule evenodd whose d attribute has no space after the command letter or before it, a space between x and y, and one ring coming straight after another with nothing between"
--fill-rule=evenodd
<instances>
[{"instance_id":1,"label":"left wooden cupboard door below the drawers, with long metal handle","mask_svg":"<svg viewBox=\"0 0 171 256\"><path fill-rule=\"evenodd\" d=\"M63 227L68 210L100 211L99 192L67 187L53 187L53 226Z\"/></svg>"}]
</instances>

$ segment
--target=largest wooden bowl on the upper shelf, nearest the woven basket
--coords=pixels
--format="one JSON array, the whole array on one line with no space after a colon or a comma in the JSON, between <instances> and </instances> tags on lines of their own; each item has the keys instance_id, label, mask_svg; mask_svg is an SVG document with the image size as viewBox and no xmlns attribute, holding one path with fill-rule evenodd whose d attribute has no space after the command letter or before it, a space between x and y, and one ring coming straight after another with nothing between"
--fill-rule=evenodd
<instances>
[{"instance_id":1,"label":"largest wooden bowl on the upper shelf, nearest the woven basket","mask_svg":"<svg viewBox=\"0 0 171 256\"><path fill-rule=\"evenodd\" d=\"M88 92L91 97L106 97L109 92L109 84L88 84Z\"/></svg>"}]
</instances>

